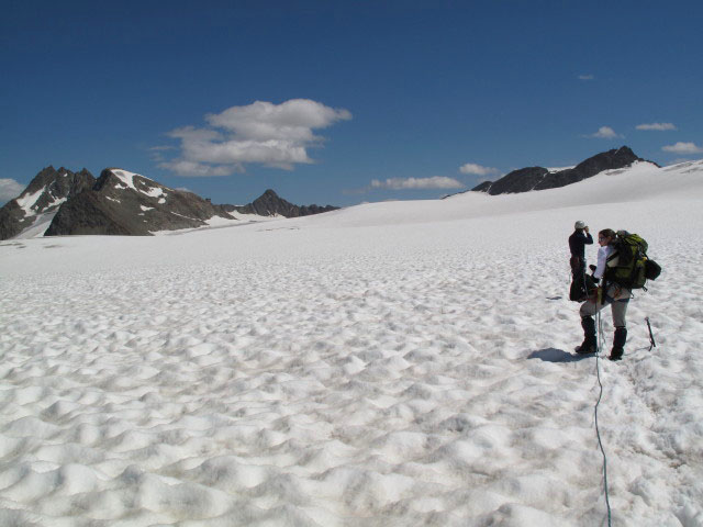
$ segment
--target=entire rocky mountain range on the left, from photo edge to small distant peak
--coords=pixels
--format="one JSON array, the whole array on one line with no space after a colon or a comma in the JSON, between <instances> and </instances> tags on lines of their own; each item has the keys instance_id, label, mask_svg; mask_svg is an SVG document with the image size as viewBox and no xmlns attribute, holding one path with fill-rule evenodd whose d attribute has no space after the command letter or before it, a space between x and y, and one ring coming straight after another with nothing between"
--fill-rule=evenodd
<instances>
[{"instance_id":1,"label":"entire rocky mountain range on the left, from photo edge to small distant peak","mask_svg":"<svg viewBox=\"0 0 703 527\"><path fill-rule=\"evenodd\" d=\"M199 195L165 187L120 168L98 179L88 170L46 167L14 200L0 209L0 239L33 235L136 235L196 228L236 214L298 217L337 208L294 205L267 190L247 205L215 205Z\"/></svg>"}]
</instances>

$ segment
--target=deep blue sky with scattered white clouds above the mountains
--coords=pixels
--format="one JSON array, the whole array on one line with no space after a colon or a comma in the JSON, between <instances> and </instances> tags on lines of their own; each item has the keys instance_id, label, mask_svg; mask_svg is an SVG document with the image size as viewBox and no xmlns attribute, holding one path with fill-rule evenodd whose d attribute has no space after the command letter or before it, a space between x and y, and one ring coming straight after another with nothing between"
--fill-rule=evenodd
<instances>
[{"instance_id":1,"label":"deep blue sky with scattered white clouds above the mountains","mask_svg":"<svg viewBox=\"0 0 703 527\"><path fill-rule=\"evenodd\" d=\"M703 157L696 1L3 4L0 202L47 165L349 205Z\"/></svg>"}]
</instances>

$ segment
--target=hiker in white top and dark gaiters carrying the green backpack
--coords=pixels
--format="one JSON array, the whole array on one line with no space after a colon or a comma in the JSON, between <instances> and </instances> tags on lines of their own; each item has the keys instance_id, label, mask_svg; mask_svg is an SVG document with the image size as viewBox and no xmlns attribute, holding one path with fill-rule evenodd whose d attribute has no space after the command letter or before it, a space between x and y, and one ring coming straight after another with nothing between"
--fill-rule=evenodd
<instances>
[{"instance_id":1,"label":"hiker in white top and dark gaiters carrying the green backpack","mask_svg":"<svg viewBox=\"0 0 703 527\"><path fill-rule=\"evenodd\" d=\"M583 344L577 348L579 354L594 354L596 351L595 339L595 321L593 315L606 305L611 305L613 313L613 325L615 326L615 335L613 337L613 349L611 350L611 360L621 360L627 340L627 328L625 327L625 314L627 313L627 304L632 292L615 282L609 283L604 278L605 269L617 266L617 256L611 258L614 250L615 232L605 228L598 233L598 243L601 246L598 249L598 266L593 277L601 279L601 285L594 298L589 299L581 304L581 327L583 328Z\"/></svg>"}]
</instances>

